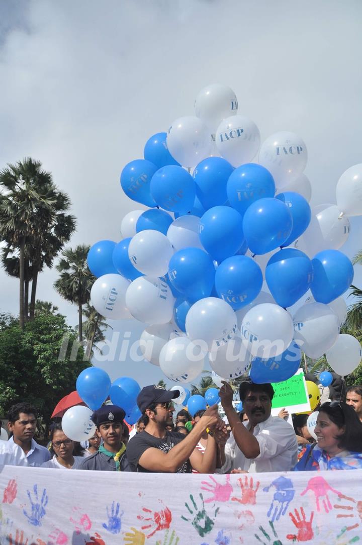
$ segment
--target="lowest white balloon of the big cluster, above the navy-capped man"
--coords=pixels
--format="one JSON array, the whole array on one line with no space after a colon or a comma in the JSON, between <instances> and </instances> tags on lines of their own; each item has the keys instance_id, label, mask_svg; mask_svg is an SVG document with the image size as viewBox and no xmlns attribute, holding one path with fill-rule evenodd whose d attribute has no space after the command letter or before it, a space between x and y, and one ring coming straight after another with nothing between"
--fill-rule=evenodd
<instances>
[{"instance_id":1,"label":"lowest white balloon of the big cluster, above the navy-capped man","mask_svg":"<svg viewBox=\"0 0 362 545\"><path fill-rule=\"evenodd\" d=\"M187 337L168 341L160 353L160 367L166 377L176 382L190 382L203 370L205 352Z\"/></svg>"}]
</instances>

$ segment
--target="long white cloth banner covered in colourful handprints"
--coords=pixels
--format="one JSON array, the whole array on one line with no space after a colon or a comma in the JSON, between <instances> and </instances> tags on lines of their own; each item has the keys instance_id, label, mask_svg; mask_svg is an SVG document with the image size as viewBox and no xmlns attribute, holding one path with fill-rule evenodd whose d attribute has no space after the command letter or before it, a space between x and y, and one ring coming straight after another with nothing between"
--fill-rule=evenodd
<instances>
[{"instance_id":1,"label":"long white cloth banner covered in colourful handprints","mask_svg":"<svg viewBox=\"0 0 362 545\"><path fill-rule=\"evenodd\" d=\"M362 470L240 475L5 466L7 545L362 543Z\"/></svg>"}]
</instances>

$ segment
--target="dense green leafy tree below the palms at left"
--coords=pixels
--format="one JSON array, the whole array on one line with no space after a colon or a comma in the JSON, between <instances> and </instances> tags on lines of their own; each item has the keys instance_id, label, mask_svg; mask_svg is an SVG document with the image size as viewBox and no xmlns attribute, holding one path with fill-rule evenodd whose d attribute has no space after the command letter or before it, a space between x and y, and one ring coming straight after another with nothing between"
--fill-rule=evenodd
<instances>
[{"instance_id":1,"label":"dense green leafy tree below the palms at left","mask_svg":"<svg viewBox=\"0 0 362 545\"><path fill-rule=\"evenodd\" d=\"M69 338L68 350L59 361L64 335ZM14 403L27 401L49 421L59 399L75 390L77 376L89 366L82 349L71 361L76 340L61 314L39 314L23 331L11 321L0 328L0 414Z\"/></svg>"}]
</instances>

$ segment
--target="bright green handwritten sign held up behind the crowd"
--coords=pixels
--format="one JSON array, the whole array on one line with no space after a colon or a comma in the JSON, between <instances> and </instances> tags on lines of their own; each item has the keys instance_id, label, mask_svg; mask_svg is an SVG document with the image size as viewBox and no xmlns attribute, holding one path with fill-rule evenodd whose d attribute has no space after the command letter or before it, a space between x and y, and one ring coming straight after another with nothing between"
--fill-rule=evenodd
<instances>
[{"instance_id":1,"label":"bright green handwritten sign held up behind the crowd","mask_svg":"<svg viewBox=\"0 0 362 545\"><path fill-rule=\"evenodd\" d=\"M295 405L309 405L309 398L306 391L303 371L293 375L293 377L283 382L271 384L275 394L271 407L281 409L282 407L294 407ZM308 409L301 409L300 412ZM310 410L310 409L309 409Z\"/></svg>"}]
</instances>

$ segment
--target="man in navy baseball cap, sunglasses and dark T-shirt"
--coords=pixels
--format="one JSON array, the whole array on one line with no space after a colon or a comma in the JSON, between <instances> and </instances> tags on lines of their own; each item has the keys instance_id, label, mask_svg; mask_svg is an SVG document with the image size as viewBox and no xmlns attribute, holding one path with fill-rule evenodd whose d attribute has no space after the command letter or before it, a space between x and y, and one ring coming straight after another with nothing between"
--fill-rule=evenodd
<instances>
[{"instance_id":1,"label":"man in navy baseball cap, sunglasses and dark T-shirt","mask_svg":"<svg viewBox=\"0 0 362 545\"><path fill-rule=\"evenodd\" d=\"M127 457L132 471L154 473L214 473L216 467L216 442L209 433L205 452L195 449L204 431L209 428L224 429L217 405L207 409L192 431L185 435L168 432L174 411L172 399L178 390L167 391L161 386L145 386L137 396L141 413L148 418L146 429L138 433L127 445ZM211 432L212 433L212 432Z\"/></svg>"}]
</instances>

